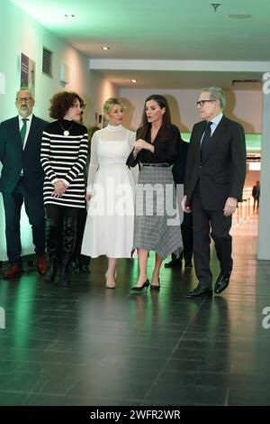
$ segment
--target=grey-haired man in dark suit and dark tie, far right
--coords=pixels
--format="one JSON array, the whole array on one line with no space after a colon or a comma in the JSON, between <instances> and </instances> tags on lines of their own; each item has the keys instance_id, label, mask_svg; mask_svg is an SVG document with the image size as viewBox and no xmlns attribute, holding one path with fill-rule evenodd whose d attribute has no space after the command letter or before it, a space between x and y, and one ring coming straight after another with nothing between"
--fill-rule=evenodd
<instances>
[{"instance_id":1,"label":"grey-haired man in dark suit and dark tie, far right","mask_svg":"<svg viewBox=\"0 0 270 424\"><path fill-rule=\"evenodd\" d=\"M203 88L197 107L203 121L194 124L184 178L184 212L193 211L193 259L198 286L188 298L211 296L210 235L215 242L220 275L215 293L225 290L232 271L231 216L246 177L243 127L223 115L220 88Z\"/></svg>"}]
</instances>

